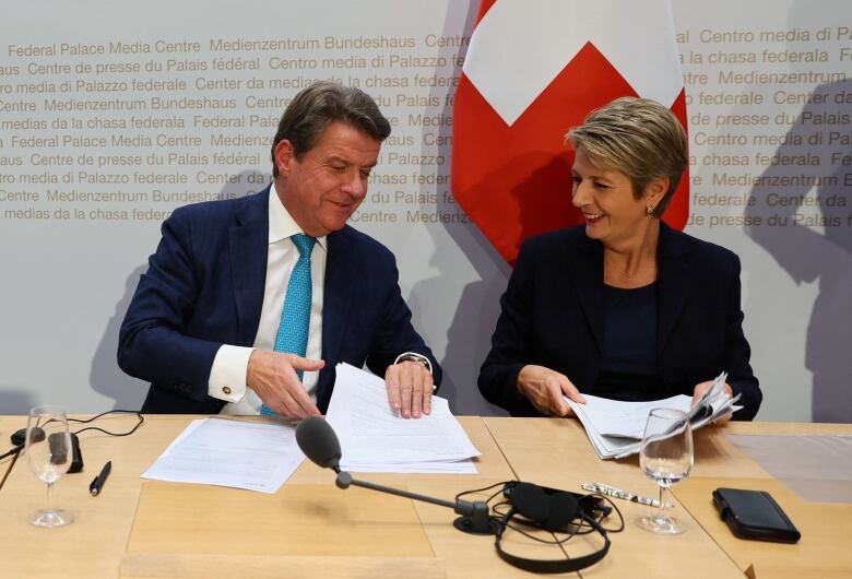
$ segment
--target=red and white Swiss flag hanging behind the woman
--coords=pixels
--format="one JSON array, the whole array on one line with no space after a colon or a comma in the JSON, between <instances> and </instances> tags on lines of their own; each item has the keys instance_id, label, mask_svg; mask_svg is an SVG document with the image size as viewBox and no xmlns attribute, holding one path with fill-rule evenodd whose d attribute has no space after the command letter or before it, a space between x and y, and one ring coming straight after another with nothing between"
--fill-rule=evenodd
<instances>
[{"instance_id":1,"label":"red and white Swiss flag hanging behind the woman","mask_svg":"<svg viewBox=\"0 0 852 579\"><path fill-rule=\"evenodd\" d=\"M619 96L686 121L668 0L482 0L455 93L452 190L511 264L531 235L581 222L568 129ZM684 175L664 221L683 229Z\"/></svg>"}]
</instances>

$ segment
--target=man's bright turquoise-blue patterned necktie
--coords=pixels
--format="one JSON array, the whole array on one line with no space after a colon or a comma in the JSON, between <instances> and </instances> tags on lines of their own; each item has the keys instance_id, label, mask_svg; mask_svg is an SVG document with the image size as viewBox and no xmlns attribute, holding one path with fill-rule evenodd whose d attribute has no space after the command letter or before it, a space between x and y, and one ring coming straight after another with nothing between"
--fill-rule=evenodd
<instances>
[{"instance_id":1,"label":"man's bright turquoise-blue patterned necktie","mask_svg":"<svg viewBox=\"0 0 852 579\"><path fill-rule=\"evenodd\" d=\"M299 250L299 259L289 274L287 282L287 295L284 297L284 307L281 309L281 321L279 322L279 333L275 336L275 352L286 352L305 356L308 347L308 326L310 323L310 252L313 250L316 237L309 237L305 234L296 234L291 237L293 244ZM301 380L301 370L296 370L296 375ZM263 404L260 409L261 414L275 414L269 406Z\"/></svg>"}]
</instances>

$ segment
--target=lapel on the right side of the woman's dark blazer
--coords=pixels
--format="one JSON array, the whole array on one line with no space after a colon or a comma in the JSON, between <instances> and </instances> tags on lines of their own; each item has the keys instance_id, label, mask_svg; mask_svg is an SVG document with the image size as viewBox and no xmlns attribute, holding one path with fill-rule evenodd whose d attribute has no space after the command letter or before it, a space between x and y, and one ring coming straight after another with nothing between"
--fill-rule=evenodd
<instances>
[{"instance_id":1,"label":"lapel on the right side of the woman's dark blazer","mask_svg":"<svg viewBox=\"0 0 852 579\"><path fill-rule=\"evenodd\" d=\"M660 302L656 351L663 351L686 303L691 285L686 258L689 248L681 243L679 234L664 223L660 224Z\"/></svg>"}]
</instances>

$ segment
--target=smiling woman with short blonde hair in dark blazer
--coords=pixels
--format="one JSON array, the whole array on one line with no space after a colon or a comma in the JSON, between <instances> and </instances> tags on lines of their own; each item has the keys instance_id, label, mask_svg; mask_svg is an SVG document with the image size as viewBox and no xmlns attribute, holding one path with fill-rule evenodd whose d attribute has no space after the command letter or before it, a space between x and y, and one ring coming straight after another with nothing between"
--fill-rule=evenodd
<instances>
[{"instance_id":1,"label":"smiling woman with short blonde hair in dark blazer","mask_svg":"<svg viewBox=\"0 0 852 579\"><path fill-rule=\"evenodd\" d=\"M752 420L761 392L749 365L739 259L665 225L688 164L666 107L624 97L566 139L573 205L585 224L528 239L500 304L478 386L516 416L570 414L563 395L694 400L727 371Z\"/></svg>"}]
</instances>

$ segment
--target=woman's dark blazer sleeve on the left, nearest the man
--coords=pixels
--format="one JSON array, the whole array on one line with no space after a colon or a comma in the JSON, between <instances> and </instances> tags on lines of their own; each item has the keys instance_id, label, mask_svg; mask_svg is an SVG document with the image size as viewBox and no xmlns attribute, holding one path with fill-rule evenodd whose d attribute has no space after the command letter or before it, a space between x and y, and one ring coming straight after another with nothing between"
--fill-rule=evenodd
<instances>
[{"instance_id":1,"label":"woman's dark blazer sleeve on the left, nearest the man","mask_svg":"<svg viewBox=\"0 0 852 579\"><path fill-rule=\"evenodd\" d=\"M480 369L482 395L513 416L540 416L518 391L518 375L532 358L532 296L534 263L528 246L521 247L509 285L500 298L500 317L492 335L492 350Z\"/></svg>"}]
</instances>

